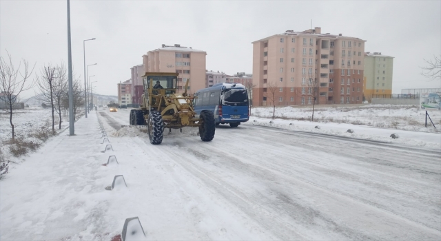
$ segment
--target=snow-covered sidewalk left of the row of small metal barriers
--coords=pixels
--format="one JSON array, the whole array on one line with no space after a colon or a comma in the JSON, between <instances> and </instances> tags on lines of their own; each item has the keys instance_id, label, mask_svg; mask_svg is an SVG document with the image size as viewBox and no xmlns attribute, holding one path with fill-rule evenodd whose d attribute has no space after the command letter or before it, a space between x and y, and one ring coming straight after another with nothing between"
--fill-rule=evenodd
<instances>
[{"instance_id":1,"label":"snow-covered sidewalk left of the row of small metal barriers","mask_svg":"<svg viewBox=\"0 0 441 241\"><path fill-rule=\"evenodd\" d=\"M0 240L110 240L117 234L102 233L116 229L102 218L113 176L101 165L112 154L101 152L109 143L101 144L96 112L75 123L76 136L68 134L65 129L48 140L0 181Z\"/></svg>"}]
</instances>

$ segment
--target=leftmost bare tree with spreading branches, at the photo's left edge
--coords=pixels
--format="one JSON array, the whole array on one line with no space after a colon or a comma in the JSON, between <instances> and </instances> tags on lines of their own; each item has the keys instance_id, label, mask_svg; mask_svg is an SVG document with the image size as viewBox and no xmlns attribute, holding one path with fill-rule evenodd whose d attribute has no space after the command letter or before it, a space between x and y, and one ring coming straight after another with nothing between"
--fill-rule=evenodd
<instances>
[{"instance_id":1,"label":"leftmost bare tree with spreading branches, at the photo's left edge","mask_svg":"<svg viewBox=\"0 0 441 241\"><path fill-rule=\"evenodd\" d=\"M7 52L8 53L8 52ZM33 81L30 75L34 71L34 67L29 71L28 61L23 61L23 72L20 71L21 62L17 69L12 63L12 56L8 53L8 59L0 57L0 103L4 102L5 112L9 113L9 123L12 128L12 139L14 139L14 124L12 123L13 105L18 103L21 92L29 90L33 87ZM20 75L20 76L19 76Z\"/></svg>"}]
</instances>

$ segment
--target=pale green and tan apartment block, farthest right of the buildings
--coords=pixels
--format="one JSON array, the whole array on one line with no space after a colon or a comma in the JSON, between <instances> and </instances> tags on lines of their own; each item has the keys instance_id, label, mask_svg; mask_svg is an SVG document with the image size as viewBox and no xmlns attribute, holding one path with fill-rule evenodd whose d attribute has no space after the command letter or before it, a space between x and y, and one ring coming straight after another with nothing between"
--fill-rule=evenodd
<instances>
[{"instance_id":1,"label":"pale green and tan apartment block, farthest right of the buildings","mask_svg":"<svg viewBox=\"0 0 441 241\"><path fill-rule=\"evenodd\" d=\"M390 98L392 94L393 57L380 52L365 53L364 98Z\"/></svg>"}]
</instances>

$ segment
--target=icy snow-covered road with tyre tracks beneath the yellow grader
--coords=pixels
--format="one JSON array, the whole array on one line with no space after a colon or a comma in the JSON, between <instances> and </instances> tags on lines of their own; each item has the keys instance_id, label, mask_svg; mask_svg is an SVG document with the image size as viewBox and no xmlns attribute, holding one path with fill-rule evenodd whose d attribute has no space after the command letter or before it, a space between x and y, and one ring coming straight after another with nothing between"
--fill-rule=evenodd
<instances>
[{"instance_id":1,"label":"icy snow-covered road with tyre tracks beneath the yellow grader","mask_svg":"<svg viewBox=\"0 0 441 241\"><path fill-rule=\"evenodd\" d=\"M127 113L111 116L127 125ZM159 146L146 134L116 141L130 153L142 149L181 184L176 189L194 203L186 215L199 228L215 229L207 220L219 218L239 222L223 227L235 235L204 231L203 239L441 238L439 151L245 125L218 127L211 143L194 133L173 133ZM230 215L212 213L214 203ZM240 236L245 230L260 234Z\"/></svg>"}]
</instances>

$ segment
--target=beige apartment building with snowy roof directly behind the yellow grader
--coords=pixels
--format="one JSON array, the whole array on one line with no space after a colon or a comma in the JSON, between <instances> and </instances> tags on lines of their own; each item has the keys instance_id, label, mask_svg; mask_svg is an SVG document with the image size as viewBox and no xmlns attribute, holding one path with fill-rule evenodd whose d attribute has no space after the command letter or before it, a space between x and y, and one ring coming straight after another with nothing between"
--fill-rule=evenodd
<instances>
[{"instance_id":1,"label":"beige apartment building with snowy roof directly behind the yellow grader","mask_svg":"<svg viewBox=\"0 0 441 241\"><path fill-rule=\"evenodd\" d=\"M178 92L182 92L185 83L189 81L190 94L205 88L205 56L207 52L187 48L179 44L174 46L162 45L162 48L152 50L143 55L145 72L176 72L178 77Z\"/></svg>"}]
</instances>

